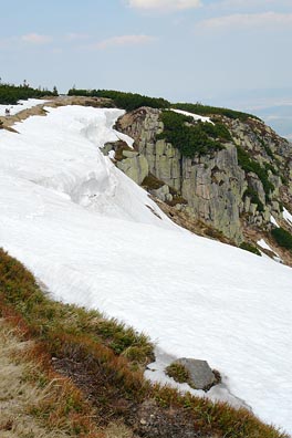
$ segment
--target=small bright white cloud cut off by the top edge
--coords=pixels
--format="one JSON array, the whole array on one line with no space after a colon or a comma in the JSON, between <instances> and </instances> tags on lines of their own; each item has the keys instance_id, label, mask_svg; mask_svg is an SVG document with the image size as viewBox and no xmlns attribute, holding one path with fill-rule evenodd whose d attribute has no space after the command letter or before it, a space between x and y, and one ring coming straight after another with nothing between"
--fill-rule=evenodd
<instances>
[{"instance_id":1,"label":"small bright white cloud cut off by the top edge","mask_svg":"<svg viewBox=\"0 0 292 438\"><path fill-rule=\"evenodd\" d=\"M179 11L201 6L200 0L127 0L126 3L129 8L142 9L145 11Z\"/></svg>"}]
</instances>

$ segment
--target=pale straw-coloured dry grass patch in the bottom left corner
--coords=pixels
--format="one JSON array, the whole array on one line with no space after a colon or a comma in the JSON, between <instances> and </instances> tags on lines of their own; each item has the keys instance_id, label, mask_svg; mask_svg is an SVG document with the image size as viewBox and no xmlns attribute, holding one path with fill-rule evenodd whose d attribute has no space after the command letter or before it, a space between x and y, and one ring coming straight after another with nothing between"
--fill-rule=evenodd
<instances>
[{"instance_id":1,"label":"pale straw-coloured dry grass patch in the bottom left corner","mask_svg":"<svg viewBox=\"0 0 292 438\"><path fill-rule=\"evenodd\" d=\"M97 429L95 416L72 382L48 368L34 342L23 341L22 331L1 319L1 438L133 437L122 421Z\"/></svg>"}]
</instances>

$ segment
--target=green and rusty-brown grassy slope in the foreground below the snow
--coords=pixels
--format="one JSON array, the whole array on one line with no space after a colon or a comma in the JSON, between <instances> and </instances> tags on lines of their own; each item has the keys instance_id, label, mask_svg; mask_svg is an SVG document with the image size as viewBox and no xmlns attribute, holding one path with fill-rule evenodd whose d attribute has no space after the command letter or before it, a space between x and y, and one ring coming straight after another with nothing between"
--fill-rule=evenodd
<instances>
[{"instance_id":1,"label":"green and rusty-brown grassy slope in the foreground below the snow","mask_svg":"<svg viewBox=\"0 0 292 438\"><path fill-rule=\"evenodd\" d=\"M25 404L20 407L19 415L29 415L30 425L35 423L50 434L56 432L52 437L62 437L63 432L72 437L106 437L107 431L98 432L96 425L108 428L113 421L121 420L137 435L149 438L169 437L174 427L178 429L176 437L186 436L187 430L192 430L194 437L286 437L244 409L236 410L226 404L152 386L140 371L152 358L153 348L144 335L114 320L105 320L98 312L51 301L32 274L3 250L0 250L0 315L18 327L22 340L33 340L33 348L27 355L33 373L24 374L29 383L40 388L40 396L35 397L36 404L29 404L29 409ZM13 357L22 362L25 355ZM71 382L55 371L70 376ZM2 404L0 398L0 408ZM145 406L150 406L148 411ZM147 424L148 417L155 428ZM9 425L8 418L1 425L2 430ZM118 430L112 436L123 436ZM34 436L41 435L31 435ZM49 432L44 436L51 437ZM125 429L125 436L132 436L129 429Z\"/></svg>"}]
</instances>

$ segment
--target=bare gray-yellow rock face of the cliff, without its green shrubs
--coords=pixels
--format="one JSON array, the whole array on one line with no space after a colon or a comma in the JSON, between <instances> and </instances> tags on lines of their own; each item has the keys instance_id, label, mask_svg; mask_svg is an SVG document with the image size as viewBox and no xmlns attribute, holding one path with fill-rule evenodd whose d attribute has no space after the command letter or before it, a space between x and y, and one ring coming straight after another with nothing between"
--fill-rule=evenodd
<instances>
[{"instance_id":1,"label":"bare gray-yellow rock face of the cliff, without its green shrubs","mask_svg":"<svg viewBox=\"0 0 292 438\"><path fill-rule=\"evenodd\" d=\"M188 158L170 143L157 138L164 129L159 115L159 109L142 107L118 121L117 129L135 139L135 150L125 153L117 163L126 175L143 184L148 171L161 182L159 187L147 185L154 196L174 205L174 192L178 194L177 209L221 231L237 244L243 240L244 226L269 229L271 215L281 219L279 198L283 181L285 201L292 190L292 149L285 139L255 118L243 123L220 116L231 140L221 150ZM242 167L239 148L260 165L265 179L259 171Z\"/></svg>"}]
</instances>

